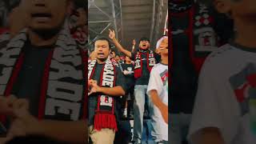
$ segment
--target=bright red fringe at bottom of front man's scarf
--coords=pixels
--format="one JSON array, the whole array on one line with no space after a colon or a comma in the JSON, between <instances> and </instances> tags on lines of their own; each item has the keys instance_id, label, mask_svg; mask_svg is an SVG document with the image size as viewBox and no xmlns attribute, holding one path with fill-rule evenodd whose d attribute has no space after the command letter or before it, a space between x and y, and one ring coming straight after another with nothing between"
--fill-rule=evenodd
<instances>
[{"instance_id":1,"label":"bright red fringe at bottom of front man's scarf","mask_svg":"<svg viewBox=\"0 0 256 144\"><path fill-rule=\"evenodd\" d=\"M94 129L102 130L104 128L118 131L118 126L114 114L99 113L94 115Z\"/></svg>"}]
</instances>

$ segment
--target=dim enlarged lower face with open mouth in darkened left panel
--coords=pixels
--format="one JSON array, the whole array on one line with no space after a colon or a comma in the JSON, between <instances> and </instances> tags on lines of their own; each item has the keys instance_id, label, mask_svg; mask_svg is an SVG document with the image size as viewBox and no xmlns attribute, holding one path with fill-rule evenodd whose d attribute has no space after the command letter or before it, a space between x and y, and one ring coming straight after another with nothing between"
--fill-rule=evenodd
<instances>
[{"instance_id":1,"label":"dim enlarged lower face with open mouth in darkened left panel","mask_svg":"<svg viewBox=\"0 0 256 144\"><path fill-rule=\"evenodd\" d=\"M25 0L32 30L55 30L62 26L68 8L68 0Z\"/></svg>"}]
</instances>

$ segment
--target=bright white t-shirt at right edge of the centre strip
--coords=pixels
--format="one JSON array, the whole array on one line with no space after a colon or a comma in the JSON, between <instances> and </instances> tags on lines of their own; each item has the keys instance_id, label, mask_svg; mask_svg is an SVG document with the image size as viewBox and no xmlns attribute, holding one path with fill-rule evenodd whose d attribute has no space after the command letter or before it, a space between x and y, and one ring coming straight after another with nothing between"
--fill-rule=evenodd
<instances>
[{"instance_id":1,"label":"bright white t-shirt at right edge of the centre strip","mask_svg":"<svg viewBox=\"0 0 256 144\"><path fill-rule=\"evenodd\" d=\"M150 90L157 90L158 96L166 106L168 106L168 66L158 63L150 72L150 82L147 94ZM158 119L161 128L162 139L168 141L168 124L163 120L162 114L157 106L154 107L154 118Z\"/></svg>"}]
</instances>

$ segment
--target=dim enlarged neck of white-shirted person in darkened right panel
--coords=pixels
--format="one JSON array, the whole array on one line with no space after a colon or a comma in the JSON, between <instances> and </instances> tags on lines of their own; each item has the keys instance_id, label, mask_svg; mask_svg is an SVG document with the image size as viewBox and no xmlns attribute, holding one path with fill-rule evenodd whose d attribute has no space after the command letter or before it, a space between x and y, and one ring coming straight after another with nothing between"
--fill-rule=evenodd
<instances>
[{"instance_id":1,"label":"dim enlarged neck of white-shirted person in darkened right panel","mask_svg":"<svg viewBox=\"0 0 256 144\"><path fill-rule=\"evenodd\" d=\"M256 18L235 19L236 37L234 42L246 47L256 47L255 32L256 32Z\"/></svg>"}]
</instances>

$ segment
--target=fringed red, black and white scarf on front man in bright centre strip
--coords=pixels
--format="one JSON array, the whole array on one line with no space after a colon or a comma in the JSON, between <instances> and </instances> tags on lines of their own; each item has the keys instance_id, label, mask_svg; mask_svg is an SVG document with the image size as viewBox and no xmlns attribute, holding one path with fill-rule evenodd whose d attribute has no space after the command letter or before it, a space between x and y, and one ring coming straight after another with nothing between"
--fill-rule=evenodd
<instances>
[{"instance_id":1,"label":"fringed red, black and white scarf on front man in bright centre strip","mask_svg":"<svg viewBox=\"0 0 256 144\"><path fill-rule=\"evenodd\" d=\"M88 80L92 79L94 76L94 71L97 61L94 59L88 65ZM114 87L116 81L116 67L108 58L102 67L100 83L98 86L103 87ZM104 128L109 128L117 131L117 121L115 118L115 98L109 95L98 95L97 107L94 114L94 129L102 130Z\"/></svg>"}]
</instances>

